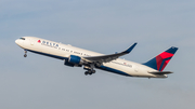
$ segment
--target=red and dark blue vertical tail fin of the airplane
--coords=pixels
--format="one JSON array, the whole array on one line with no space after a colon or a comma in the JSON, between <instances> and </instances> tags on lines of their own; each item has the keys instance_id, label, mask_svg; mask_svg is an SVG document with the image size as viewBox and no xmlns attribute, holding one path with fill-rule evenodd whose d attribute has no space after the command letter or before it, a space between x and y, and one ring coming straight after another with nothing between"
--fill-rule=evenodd
<instances>
[{"instance_id":1,"label":"red and dark blue vertical tail fin of the airplane","mask_svg":"<svg viewBox=\"0 0 195 109\"><path fill-rule=\"evenodd\" d=\"M178 47L172 46L143 65L162 71L177 51Z\"/></svg>"}]
</instances>

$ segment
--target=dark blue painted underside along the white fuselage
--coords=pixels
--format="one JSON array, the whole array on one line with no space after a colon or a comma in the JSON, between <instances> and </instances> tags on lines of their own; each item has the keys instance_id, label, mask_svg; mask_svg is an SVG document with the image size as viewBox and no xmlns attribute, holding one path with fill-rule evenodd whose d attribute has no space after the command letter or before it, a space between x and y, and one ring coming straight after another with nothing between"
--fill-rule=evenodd
<instances>
[{"instance_id":1,"label":"dark blue painted underside along the white fuselage","mask_svg":"<svg viewBox=\"0 0 195 109\"><path fill-rule=\"evenodd\" d=\"M41 53L41 52L31 51L31 50L27 50L27 51L32 52L32 53L36 53L36 54L40 54L40 55L44 55L44 56L57 58L57 59L63 59L63 60L64 60L64 59L65 59L65 60L68 59L67 57L56 56L56 55L52 55L52 54L48 54L48 53ZM95 67L96 67L96 66L95 66ZM105 71L114 72L114 73L117 73L117 74L131 77L130 74L128 74L128 73L126 73L126 72L123 72L123 71L120 71L120 70L117 70L117 69L114 69L114 68L109 68L109 67L106 67L106 66L101 66L101 67L96 67L96 68L98 68L98 69L105 70Z\"/></svg>"}]
</instances>

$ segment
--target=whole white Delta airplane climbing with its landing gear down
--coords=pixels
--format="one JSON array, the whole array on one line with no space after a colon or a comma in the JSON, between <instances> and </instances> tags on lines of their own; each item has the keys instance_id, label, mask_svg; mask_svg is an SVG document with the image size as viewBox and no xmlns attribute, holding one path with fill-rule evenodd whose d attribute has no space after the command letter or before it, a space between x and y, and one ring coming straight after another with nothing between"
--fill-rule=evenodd
<instances>
[{"instance_id":1,"label":"whole white Delta airplane climbing with its landing gear down","mask_svg":"<svg viewBox=\"0 0 195 109\"><path fill-rule=\"evenodd\" d=\"M139 78L167 78L171 71L164 71L178 47L171 46L156 57L144 64L138 64L121 59L120 56L129 54L136 43L120 53L109 55L79 49L69 44L63 44L36 37L22 37L15 40L15 43L24 49L24 57L27 52L57 58L64 60L64 65L69 67L82 67L87 70L86 76L95 73L94 69L117 73L126 77Z\"/></svg>"}]
</instances>

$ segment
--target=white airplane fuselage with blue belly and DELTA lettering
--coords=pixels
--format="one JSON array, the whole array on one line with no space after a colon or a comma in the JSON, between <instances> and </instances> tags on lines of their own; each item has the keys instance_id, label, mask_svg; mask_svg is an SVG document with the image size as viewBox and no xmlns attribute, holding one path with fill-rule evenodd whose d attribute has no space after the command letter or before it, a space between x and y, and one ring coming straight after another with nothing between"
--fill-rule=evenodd
<instances>
[{"instance_id":1,"label":"white airplane fuselage with blue belly and DELTA lettering","mask_svg":"<svg viewBox=\"0 0 195 109\"><path fill-rule=\"evenodd\" d=\"M68 58L70 55L76 55L80 57L104 55L88 50L75 47L68 44L62 44L40 38L25 38L25 40L15 41L22 49L58 59ZM120 58L117 58L116 60L112 60L109 63L103 63L103 65L99 67L99 69L129 77L167 78L166 74L157 76L148 73L152 71L157 71L153 68Z\"/></svg>"}]
</instances>

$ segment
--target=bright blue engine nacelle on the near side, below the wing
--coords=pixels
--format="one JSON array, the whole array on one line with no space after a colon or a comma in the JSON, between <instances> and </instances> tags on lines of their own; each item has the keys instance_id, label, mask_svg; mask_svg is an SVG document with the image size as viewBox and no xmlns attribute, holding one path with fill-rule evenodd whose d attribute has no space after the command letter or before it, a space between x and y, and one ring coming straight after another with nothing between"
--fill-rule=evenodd
<instances>
[{"instance_id":1,"label":"bright blue engine nacelle on the near side, below the wing","mask_svg":"<svg viewBox=\"0 0 195 109\"><path fill-rule=\"evenodd\" d=\"M68 63L72 63L75 65L82 65L82 59L79 56L70 55L68 58Z\"/></svg>"}]
</instances>

